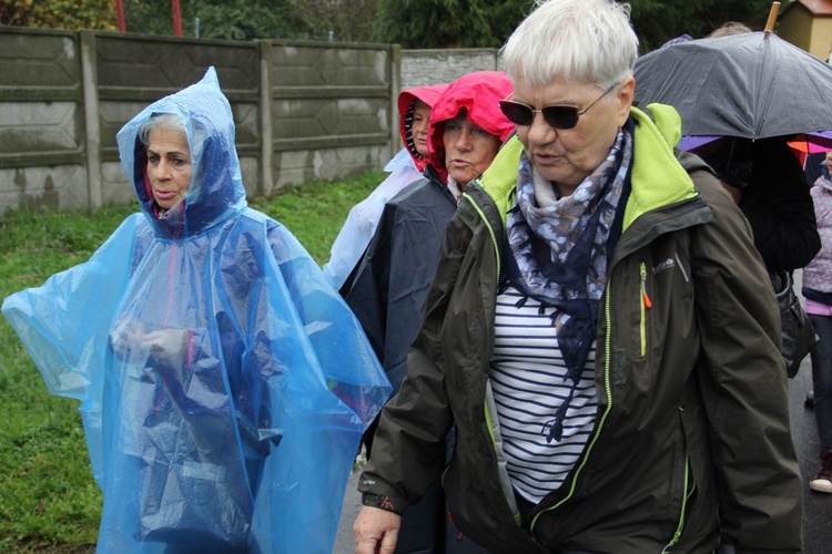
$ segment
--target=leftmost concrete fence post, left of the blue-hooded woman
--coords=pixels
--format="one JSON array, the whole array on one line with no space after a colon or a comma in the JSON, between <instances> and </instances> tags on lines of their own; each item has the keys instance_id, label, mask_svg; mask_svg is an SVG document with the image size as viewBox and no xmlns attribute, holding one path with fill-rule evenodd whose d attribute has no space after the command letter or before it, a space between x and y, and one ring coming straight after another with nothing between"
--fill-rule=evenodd
<instances>
[{"instance_id":1,"label":"leftmost concrete fence post, left of the blue-hooded woman","mask_svg":"<svg viewBox=\"0 0 832 554\"><path fill-rule=\"evenodd\" d=\"M89 208L101 207L101 126L99 124L99 72L95 32L81 31L81 78L84 110L84 147L87 150L87 187Z\"/></svg>"}]
</instances>

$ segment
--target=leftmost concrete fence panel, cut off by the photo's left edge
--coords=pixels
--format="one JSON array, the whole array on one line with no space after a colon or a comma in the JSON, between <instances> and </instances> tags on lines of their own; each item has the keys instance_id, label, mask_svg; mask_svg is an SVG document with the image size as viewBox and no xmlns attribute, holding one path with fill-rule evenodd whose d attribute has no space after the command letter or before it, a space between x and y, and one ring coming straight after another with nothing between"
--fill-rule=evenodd
<instances>
[{"instance_id":1,"label":"leftmost concrete fence panel, cut off by the photo's left edge","mask_svg":"<svg viewBox=\"0 0 832 554\"><path fill-rule=\"evenodd\" d=\"M10 206L84 208L79 35L27 31L0 33L0 214Z\"/></svg>"}]
</instances>

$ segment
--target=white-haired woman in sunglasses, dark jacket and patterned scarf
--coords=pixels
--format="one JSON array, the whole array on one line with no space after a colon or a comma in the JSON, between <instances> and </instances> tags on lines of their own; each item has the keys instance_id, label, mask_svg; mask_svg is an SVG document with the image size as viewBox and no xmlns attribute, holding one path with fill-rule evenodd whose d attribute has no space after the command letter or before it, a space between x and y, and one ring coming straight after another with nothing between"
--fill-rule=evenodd
<instances>
[{"instance_id":1,"label":"white-haired woman in sunglasses, dark jacket and patterned scarf","mask_svg":"<svg viewBox=\"0 0 832 554\"><path fill-rule=\"evenodd\" d=\"M496 552L801 548L771 285L676 111L631 107L637 47L627 6L550 0L504 48L517 137L446 232L357 552L443 471Z\"/></svg>"}]
</instances>

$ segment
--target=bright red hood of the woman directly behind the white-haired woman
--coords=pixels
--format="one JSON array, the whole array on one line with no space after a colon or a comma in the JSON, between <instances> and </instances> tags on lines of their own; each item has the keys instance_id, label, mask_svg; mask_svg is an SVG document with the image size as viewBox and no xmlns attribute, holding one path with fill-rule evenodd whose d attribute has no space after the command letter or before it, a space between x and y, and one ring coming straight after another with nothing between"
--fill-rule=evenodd
<instances>
[{"instance_id":1,"label":"bright red hood of the woman directly behind the white-haired woman","mask_svg":"<svg viewBox=\"0 0 832 554\"><path fill-rule=\"evenodd\" d=\"M511 81L500 71L475 71L448 85L430 111L428 131L430 166L443 182L448 181L445 143L442 137L445 131L444 123L459 115L465 109L469 121L505 142L514 133L515 124L503 115L499 101L511 94Z\"/></svg>"}]
</instances>

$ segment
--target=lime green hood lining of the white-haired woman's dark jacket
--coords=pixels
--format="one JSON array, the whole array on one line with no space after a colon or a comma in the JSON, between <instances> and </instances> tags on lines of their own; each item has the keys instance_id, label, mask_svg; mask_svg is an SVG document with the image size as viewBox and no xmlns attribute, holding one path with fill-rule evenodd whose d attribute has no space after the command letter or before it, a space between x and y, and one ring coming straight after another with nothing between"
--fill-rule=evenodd
<instances>
[{"instance_id":1,"label":"lime green hood lining of the white-haired woman's dark jacket","mask_svg":"<svg viewBox=\"0 0 832 554\"><path fill-rule=\"evenodd\" d=\"M625 208L623 228L640 215L697 195L688 172L677 161L673 146L681 138L682 121L669 105L650 104L649 115L637 107L630 110L636 122L633 160L630 181L632 191ZM517 167L522 144L515 134L500 148L479 185L494 199L503 223L514 205Z\"/></svg>"}]
</instances>

